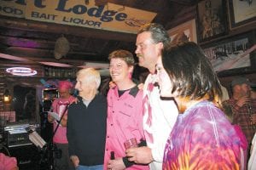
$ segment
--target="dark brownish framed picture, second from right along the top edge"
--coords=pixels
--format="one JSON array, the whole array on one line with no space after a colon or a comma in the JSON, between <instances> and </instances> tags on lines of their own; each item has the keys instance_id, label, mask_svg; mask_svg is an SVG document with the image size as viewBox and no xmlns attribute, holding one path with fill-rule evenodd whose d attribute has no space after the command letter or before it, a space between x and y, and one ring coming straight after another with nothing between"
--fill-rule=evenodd
<instances>
[{"instance_id":1,"label":"dark brownish framed picture, second from right along the top edge","mask_svg":"<svg viewBox=\"0 0 256 170\"><path fill-rule=\"evenodd\" d=\"M203 42L227 31L225 0L204 0L197 5L197 35Z\"/></svg>"}]
</instances>

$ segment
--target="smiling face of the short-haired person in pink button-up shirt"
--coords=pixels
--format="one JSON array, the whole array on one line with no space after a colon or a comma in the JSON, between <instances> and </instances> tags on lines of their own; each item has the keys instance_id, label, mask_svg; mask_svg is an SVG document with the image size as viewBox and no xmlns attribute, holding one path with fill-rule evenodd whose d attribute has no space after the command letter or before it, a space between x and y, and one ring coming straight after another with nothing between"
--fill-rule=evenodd
<instances>
[{"instance_id":1,"label":"smiling face of the short-haired person in pink button-up shirt","mask_svg":"<svg viewBox=\"0 0 256 170\"><path fill-rule=\"evenodd\" d=\"M109 73L113 82L120 83L130 79L129 75L132 72L132 66L128 66L125 60L113 58L110 60Z\"/></svg>"}]
</instances>

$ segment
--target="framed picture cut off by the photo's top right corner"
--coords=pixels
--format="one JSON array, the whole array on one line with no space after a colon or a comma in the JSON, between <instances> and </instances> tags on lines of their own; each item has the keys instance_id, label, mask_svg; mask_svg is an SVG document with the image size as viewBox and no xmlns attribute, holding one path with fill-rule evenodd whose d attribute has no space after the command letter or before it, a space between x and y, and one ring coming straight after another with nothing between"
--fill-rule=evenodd
<instances>
[{"instance_id":1,"label":"framed picture cut off by the photo's top right corner","mask_svg":"<svg viewBox=\"0 0 256 170\"><path fill-rule=\"evenodd\" d=\"M256 3L253 0L229 0L230 29L256 23Z\"/></svg>"}]
</instances>

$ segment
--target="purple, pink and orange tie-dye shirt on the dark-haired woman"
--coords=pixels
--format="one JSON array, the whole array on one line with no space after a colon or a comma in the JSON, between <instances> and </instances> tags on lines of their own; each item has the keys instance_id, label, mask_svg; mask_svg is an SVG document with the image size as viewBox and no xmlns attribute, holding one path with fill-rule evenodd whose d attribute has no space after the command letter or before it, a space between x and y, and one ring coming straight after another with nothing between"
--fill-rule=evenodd
<instances>
[{"instance_id":1,"label":"purple, pink and orange tie-dye shirt on the dark-haired woman","mask_svg":"<svg viewBox=\"0 0 256 170\"><path fill-rule=\"evenodd\" d=\"M201 101L177 117L163 169L241 169L241 139L212 102Z\"/></svg>"}]
</instances>

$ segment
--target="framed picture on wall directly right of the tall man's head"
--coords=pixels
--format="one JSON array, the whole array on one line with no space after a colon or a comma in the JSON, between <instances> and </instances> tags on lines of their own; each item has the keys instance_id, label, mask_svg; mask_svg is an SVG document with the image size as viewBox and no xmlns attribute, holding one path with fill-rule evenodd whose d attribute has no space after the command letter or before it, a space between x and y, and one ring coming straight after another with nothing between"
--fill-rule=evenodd
<instances>
[{"instance_id":1,"label":"framed picture on wall directly right of the tall man's head","mask_svg":"<svg viewBox=\"0 0 256 170\"><path fill-rule=\"evenodd\" d=\"M189 20L179 26L168 30L172 42L197 42L195 19Z\"/></svg>"}]
</instances>

